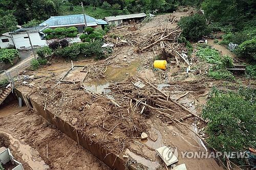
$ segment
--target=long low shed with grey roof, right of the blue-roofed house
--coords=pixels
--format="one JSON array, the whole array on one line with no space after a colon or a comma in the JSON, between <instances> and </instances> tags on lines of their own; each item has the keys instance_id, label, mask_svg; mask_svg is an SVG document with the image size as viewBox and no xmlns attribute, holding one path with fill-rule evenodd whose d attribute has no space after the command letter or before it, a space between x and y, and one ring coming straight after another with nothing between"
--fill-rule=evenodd
<instances>
[{"instance_id":1,"label":"long low shed with grey roof, right of the blue-roofed house","mask_svg":"<svg viewBox=\"0 0 256 170\"><path fill-rule=\"evenodd\" d=\"M109 17L105 17L104 20L108 22L109 25L119 26L123 22L131 23L132 21L142 20L145 17L146 17L145 13L139 13L139 14L130 14L130 15L109 16Z\"/></svg>"}]
</instances>

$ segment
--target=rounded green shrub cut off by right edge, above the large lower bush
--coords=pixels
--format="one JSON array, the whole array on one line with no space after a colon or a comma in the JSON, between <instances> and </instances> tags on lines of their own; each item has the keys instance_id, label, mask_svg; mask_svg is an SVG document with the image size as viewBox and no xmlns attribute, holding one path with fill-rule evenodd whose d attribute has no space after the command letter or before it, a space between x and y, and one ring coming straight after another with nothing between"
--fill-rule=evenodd
<instances>
[{"instance_id":1,"label":"rounded green shrub cut off by right edge, above the large lower bush","mask_svg":"<svg viewBox=\"0 0 256 170\"><path fill-rule=\"evenodd\" d=\"M256 60L256 38L244 41L234 52L241 58Z\"/></svg>"}]
</instances>

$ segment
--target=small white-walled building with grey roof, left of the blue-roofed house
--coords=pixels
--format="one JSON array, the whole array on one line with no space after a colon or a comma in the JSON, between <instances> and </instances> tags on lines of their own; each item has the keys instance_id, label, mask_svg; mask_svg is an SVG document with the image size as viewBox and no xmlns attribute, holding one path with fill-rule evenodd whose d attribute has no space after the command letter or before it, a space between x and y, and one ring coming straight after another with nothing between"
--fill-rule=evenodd
<instances>
[{"instance_id":1,"label":"small white-walled building with grey roof, left of the blue-roofed house","mask_svg":"<svg viewBox=\"0 0 256 170\"><path fill-rule=\"evenodd\" d=\"M47 41L44 40L44 33L42 30L45 30L47 27L31 27L31 28L20 28L10 35L13 38L14 45L18 50L24 50L31 48L29 37L33 47L46 46ZM28 34L29 37L28 37Z\"/></svg>"}]
</instances>

